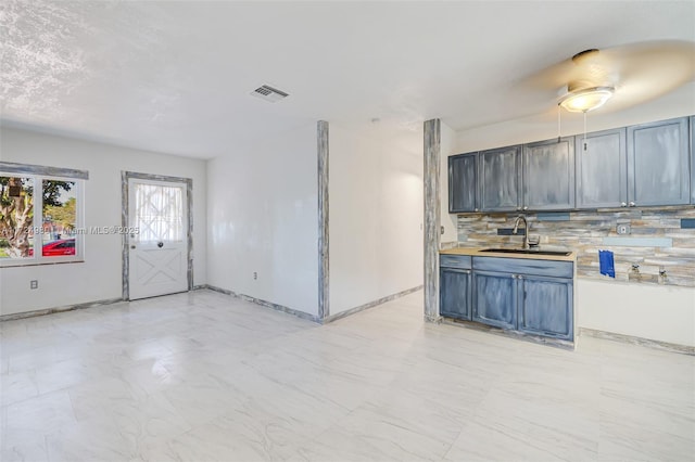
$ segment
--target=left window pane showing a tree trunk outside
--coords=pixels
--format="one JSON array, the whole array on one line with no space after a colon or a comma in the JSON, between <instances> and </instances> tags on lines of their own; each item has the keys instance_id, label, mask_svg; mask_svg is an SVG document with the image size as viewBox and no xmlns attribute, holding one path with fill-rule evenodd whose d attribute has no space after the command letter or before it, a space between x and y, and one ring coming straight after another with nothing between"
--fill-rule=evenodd
<instances>
[{"instance_id":1,"label":"left window pane showing a tree trunk outside","mask_svg":"<svg viewBox=\"0 0 695 462\"><path fill-rule=\"evenodd\" d=\"M0 258L34 256L34 180L0 177Z\"/></svg>"}]
</instances>

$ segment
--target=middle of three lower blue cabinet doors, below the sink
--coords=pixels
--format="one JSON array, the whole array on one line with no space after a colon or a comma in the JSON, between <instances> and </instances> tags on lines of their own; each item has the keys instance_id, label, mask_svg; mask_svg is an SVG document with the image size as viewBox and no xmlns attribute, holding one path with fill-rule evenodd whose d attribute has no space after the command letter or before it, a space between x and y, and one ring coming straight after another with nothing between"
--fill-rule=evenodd
<instances>
[{"instance_id":1,"label":"middle of three lower blue cabinet doors, below the sink","mask_svg":"<svg viewBox=\"0 0 695 462\"><path fill-rule=\"evenodd\" d=\"M502 329L517 326L516 279L510 273L473 273L473 321Z\"/></svg>"}]
</instances>

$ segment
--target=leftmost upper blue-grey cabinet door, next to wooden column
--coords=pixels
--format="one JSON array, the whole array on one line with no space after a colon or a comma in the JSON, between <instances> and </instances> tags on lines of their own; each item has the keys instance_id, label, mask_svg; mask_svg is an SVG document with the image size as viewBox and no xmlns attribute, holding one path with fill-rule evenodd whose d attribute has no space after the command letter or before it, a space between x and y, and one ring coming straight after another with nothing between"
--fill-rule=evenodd
<instances>
[{"instance_id":1,"label":"leftmost upper blue-grey cabinet door, next to wooden column","mask_svg":"<svg viewBox=\"0 0 695 462\"><path fill-rule=\"evenodd\" d=\"M448 157L448 211L478 211L478 153Z\"/></svg>"}]
</instances>

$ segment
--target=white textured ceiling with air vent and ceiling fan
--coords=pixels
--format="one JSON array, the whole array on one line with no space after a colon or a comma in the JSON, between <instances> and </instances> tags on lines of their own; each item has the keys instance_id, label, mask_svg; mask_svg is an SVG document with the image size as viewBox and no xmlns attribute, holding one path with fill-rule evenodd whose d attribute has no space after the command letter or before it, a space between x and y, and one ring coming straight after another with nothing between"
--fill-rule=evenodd
<instances>
[{"instance_id":1,"label":"white textured ceiling with air vent and ceiling fan","mask_svg":"<svg viewBox=\"0 0 695 462\"><path fill-rule=\"evenodd\" d=\"M692 1L5 0L0 12L3 124L206 158L318 119L523 118L555 100L519 82L578 51L695 42ZM290 97L249 95L263 84Z\"/></svg>"}]
</instances>

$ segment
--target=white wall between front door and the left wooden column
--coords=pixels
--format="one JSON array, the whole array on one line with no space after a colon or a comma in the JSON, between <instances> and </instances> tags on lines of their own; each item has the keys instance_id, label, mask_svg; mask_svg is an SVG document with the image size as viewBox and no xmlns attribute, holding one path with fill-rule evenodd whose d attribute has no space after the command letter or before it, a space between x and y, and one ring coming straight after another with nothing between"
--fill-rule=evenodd
<instances>
[{"instance_id":1,"label":"white wall between front door and the left wooden column","mask_svg":"<svg viewBox=\"0 0 695 462\"><path fill-rule=\"evenodd\" d=\"M230 147L207 182L208 284L317 315L316 124Z\"/></svg>"}]
</instances>

